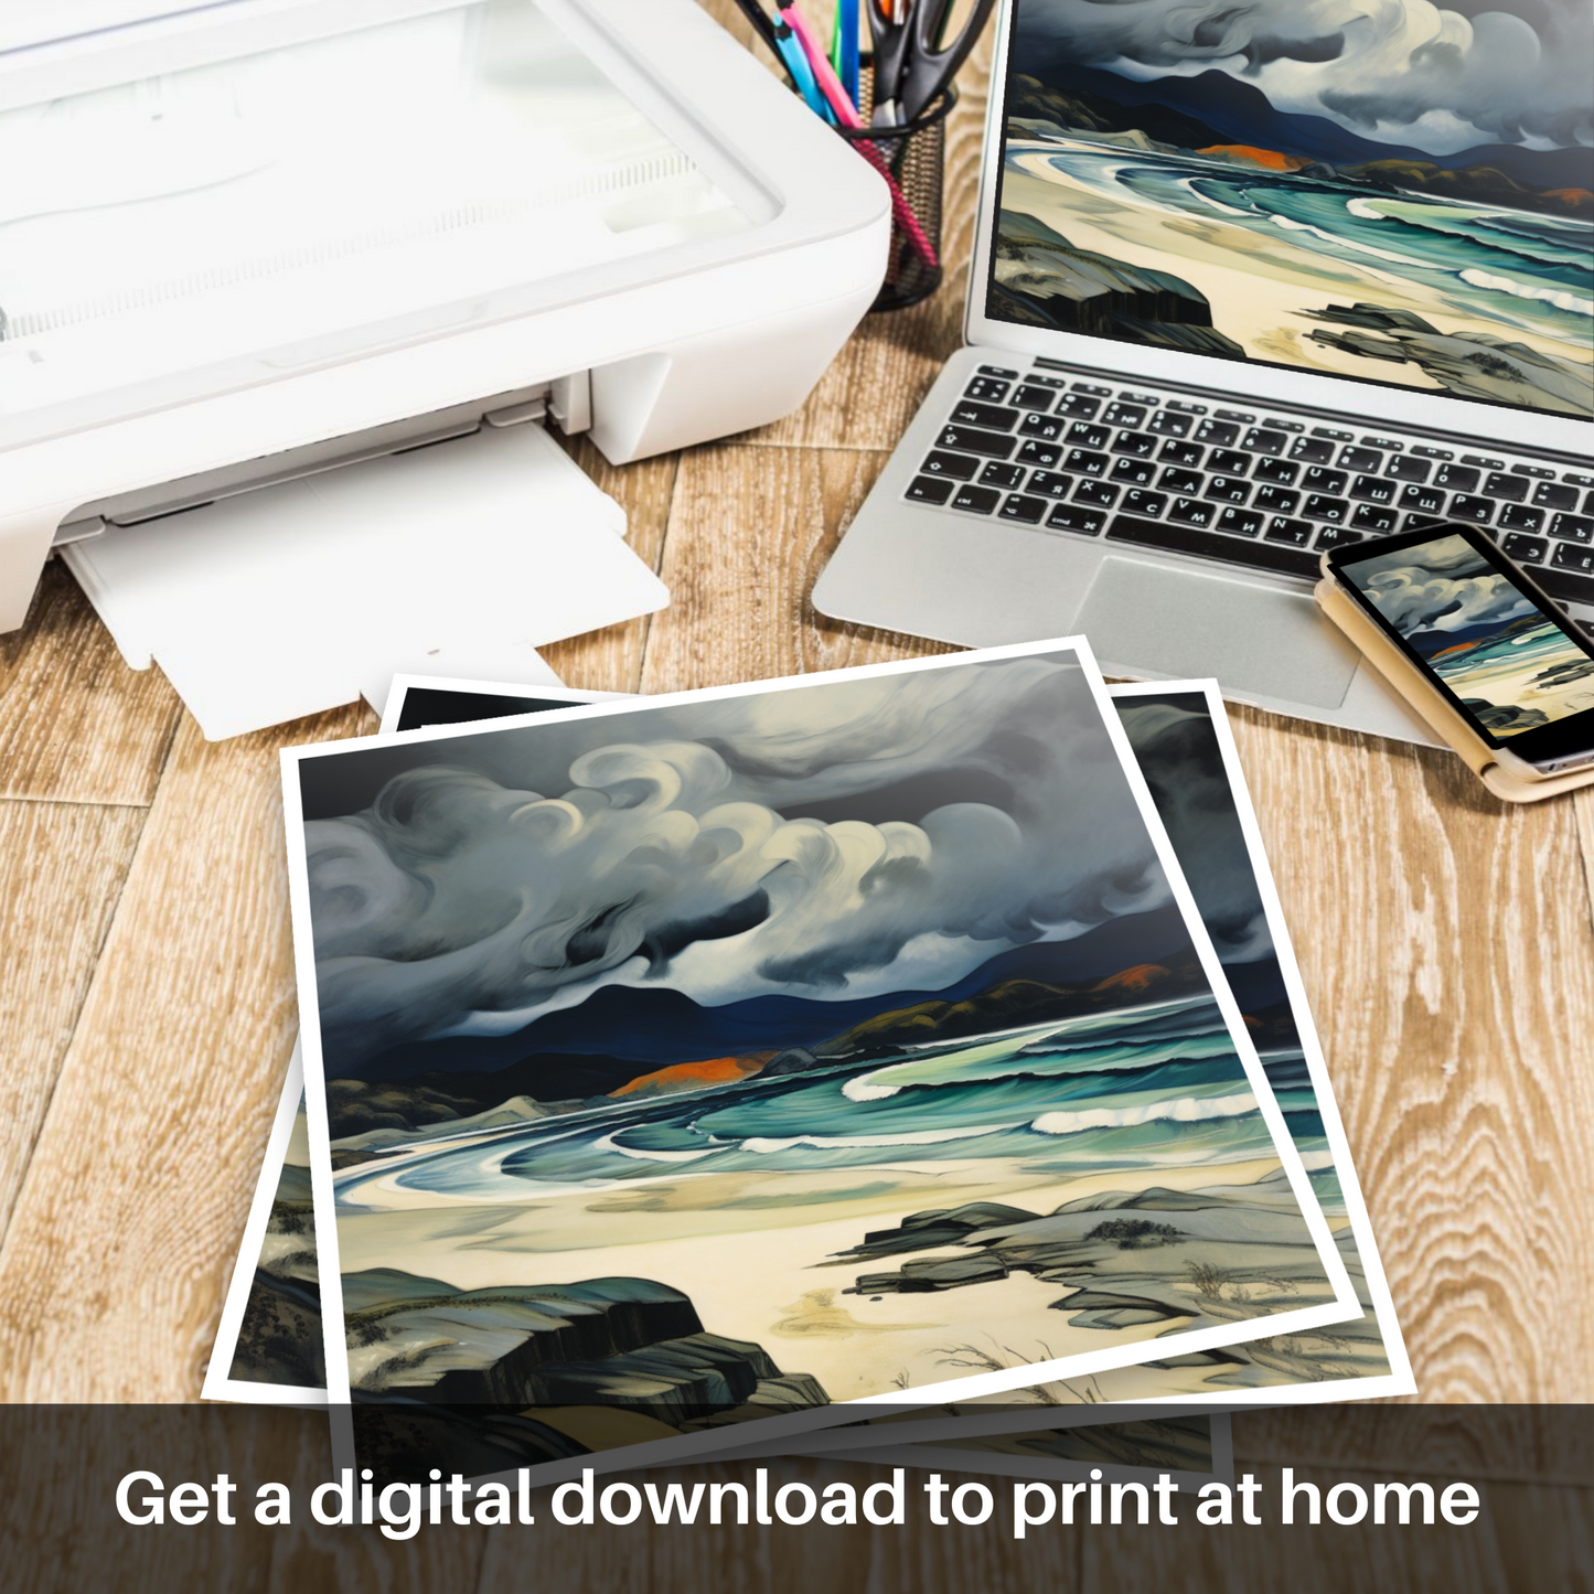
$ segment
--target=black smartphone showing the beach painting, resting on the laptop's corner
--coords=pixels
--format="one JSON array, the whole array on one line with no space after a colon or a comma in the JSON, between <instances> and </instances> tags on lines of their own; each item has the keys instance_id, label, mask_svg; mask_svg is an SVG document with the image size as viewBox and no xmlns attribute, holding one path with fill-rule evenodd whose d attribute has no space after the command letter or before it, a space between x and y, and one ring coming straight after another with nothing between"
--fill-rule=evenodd
<instances>
[{"instance_id":1,"label":"black smartphone showing the beach painting, resting on the laptop's corner","mask_svg":"<svg viewBox=\"0 0 1594 1594\"><path fill-rule=\"evenodd\" d=\"M1371 537L1326 553L1323 571L1505 765L1594 764L1594 639L1486 531Z\"/></svg>"}]
</instances>

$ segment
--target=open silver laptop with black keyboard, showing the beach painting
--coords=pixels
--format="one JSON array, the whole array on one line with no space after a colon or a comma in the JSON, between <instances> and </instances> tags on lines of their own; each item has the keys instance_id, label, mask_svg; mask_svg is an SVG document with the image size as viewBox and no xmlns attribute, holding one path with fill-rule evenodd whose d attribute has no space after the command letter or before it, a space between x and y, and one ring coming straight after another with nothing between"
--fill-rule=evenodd
<instances>
[{"instance_id":1,"label":"open silver laptop with black keyboard, showing the beach painting","mask_svg":"<svg viewBox=\"0 0 1594 1594\"><path fill-rule=\"evenodd\" d=\"M1009 0L966 347L823 614L1430 744L1325 548L1474 521L1594 631L1594 13L1334 10Z\"/></svg>"}]
</instances>

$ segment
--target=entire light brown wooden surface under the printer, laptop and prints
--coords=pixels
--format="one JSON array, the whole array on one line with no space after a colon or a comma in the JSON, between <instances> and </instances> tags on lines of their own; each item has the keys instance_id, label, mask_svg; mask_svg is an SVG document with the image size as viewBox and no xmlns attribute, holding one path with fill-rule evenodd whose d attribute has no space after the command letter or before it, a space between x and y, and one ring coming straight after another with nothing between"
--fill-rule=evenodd
<instances>
[{"instance_id":1,"label":"entire light brown wooden surface under the printer, laptop and prints","mask_svg":"<svg viewBox=\"0 0 1594 1594\"><path fill-rule=\"evenodd\" d=\"M971 72L956 261L982 116ZM963 287L867 320L760 432L625 469L574 445L673 603L548 649L564 679L665 692L936 650L821 620L808 591L955 347ZM1589 1401L1594 794L1513 810L1449 756L1232 717L1420 1400ZM276 752L373 725L206 743L59 564L0 638L0 1398L198 1396L295 1031Z\"/></svg>"}]
</instances>

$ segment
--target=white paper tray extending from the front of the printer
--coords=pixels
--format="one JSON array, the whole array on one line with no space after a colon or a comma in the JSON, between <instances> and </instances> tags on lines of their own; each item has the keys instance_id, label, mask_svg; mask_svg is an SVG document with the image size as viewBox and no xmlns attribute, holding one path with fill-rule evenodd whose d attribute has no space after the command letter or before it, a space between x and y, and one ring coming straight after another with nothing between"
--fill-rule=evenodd
<instances>
[{"instance_id":1,"label":"white paper tray extending from the front of the printer","mask_svg":"<svg viewBox=\"0 0 1594 1594\"><path fill-rule=\"evenodd\" d=\"M540 426L261 488L61 556L134 669L212 740L351 703L398 671L547 681L536 649L662 609L625 512Z\"/></svg>"}]
</instances>

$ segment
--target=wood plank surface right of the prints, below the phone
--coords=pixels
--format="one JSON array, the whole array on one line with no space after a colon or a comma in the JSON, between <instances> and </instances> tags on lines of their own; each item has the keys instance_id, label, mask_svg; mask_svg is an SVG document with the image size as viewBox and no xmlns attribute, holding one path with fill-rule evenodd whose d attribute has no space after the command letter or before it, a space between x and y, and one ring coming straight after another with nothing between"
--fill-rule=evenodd
<instances>
[{"instance_id":1,"label":"wood plank surface right of the prints, below the phone","mask_svg":"<svg viewBox=\"0 0 1594 1594\"><path fill-rule=\"evenodd\" d=\"M1422 1398L1594 1398L1576 810L1232 713Z\"/></svg>"}]
</instances>

